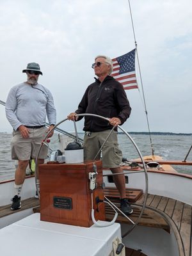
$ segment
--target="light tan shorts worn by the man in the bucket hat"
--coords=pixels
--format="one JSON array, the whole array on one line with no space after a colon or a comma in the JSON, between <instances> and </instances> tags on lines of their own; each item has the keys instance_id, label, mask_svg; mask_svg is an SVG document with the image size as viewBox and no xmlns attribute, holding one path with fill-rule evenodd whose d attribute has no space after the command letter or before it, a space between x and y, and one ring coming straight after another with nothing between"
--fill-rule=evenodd
<instances>
[{"instance_id":1,"label":"light tan shorts worn by the man in the bucket hat","mask_svg":"<svg viewBox=\"0 0 192 256\"><path fill-rule=\"evenodd\" d=\"M33 129L28 128L29 138L22 138L19 131L13 131L12 145L12 159L14 160L29 160L31 157L35 159L38 154L38 150L46 136L46 127ZM39 159L47 158L48 148L43 145L40 150Z\"/></svg>"}]
</instances>

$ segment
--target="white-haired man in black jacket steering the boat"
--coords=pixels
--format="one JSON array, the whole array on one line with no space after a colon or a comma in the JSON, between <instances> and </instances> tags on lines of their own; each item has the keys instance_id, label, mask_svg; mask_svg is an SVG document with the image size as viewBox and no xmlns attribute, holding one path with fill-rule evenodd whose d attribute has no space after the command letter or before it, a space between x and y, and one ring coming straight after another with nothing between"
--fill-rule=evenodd
<instances>
[{"instance_id":1,"label":"white-haired man in black jacket steering the boat","mask_svg":"<svg viewBox=\"0 0 192 256\"><path fill-rule=\"evenodd\" d=\"M83 95L78 109L67 116L69 120L81 120L77 114L89 113L109 118L109 122L93 116L84 116L84 160L94 159L106 140L109 130L113 129L102 148L102 164L113 173L122 173L122 151L118 148L117 125L122 125L131 114L131 107L125 90L111 75L113 61L107 56L97 56L93 63L95 82L90 84ZM100 156L97 156L100 159ZM113 180L120 193L120 209L124 214L132 213L125 193L124 174L114 175Z\"/></svg>"}]
</instances>

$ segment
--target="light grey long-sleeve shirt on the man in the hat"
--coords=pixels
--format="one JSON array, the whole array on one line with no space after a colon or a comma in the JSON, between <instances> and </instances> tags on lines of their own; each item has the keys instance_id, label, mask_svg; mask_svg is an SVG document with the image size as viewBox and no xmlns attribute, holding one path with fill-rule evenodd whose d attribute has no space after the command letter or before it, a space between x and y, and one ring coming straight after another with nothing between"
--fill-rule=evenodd
<instances>
[{"instance_id":1,"label":"light grey long-sleeve shirt on the man in the hat","mask_svg":"<svg viewBox=\"0 0 192 256\"><path fill-rule=\"evenodd\" d=\"M56 109L51 92L36 84L21 83L13 86L6 100L6 118L17 131L20 125L45 125L46 115L49 124L56 124Z\"/></svg>"}]
</instances>

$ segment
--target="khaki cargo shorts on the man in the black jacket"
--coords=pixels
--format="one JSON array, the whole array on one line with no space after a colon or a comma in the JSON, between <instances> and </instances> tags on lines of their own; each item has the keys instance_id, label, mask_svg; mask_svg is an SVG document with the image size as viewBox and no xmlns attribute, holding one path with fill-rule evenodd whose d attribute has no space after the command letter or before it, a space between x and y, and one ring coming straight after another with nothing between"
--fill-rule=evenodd
<instances>
[{"instance_id":1,"label":"khaki cargo shorts on the man in the black jacket","mask_svg":"<svg viewBox=\"0 0 192 256\"><path fill-rule=\"evenodd\" d=\"M110 130L102 132L88 132L84 134L83 148L84 160L93 160L102 143L106 140ZM100 154L96 157L100 159ZM102 166L116 168L122 163L122 151L118 148L117 132L113 131L102 148Z\"/></svg>"}]
</instances>

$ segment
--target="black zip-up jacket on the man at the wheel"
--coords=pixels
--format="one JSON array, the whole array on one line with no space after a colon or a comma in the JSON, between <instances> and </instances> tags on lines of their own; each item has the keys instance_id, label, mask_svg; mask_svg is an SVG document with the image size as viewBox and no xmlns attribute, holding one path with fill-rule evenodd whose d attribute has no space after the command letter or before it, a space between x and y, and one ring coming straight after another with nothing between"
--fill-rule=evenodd
<instances>
[{"instance_id":1,"label":"black zip-up jacket on the man at the wheel","mask_svg":"<svg viewBox=\"0 0 192 256\"><path fill-rule=\"evenodd\" d=\"M118 117L124 124L129 118L131 107L122 84L113 77L107 76L102 83L95 78L95 82L88 86L76 113L90 113L108 118ZM83 117L79 116L78 120L81 118ZM84 131L99 132L112 129L112 127L102 118L84 117ZM116 127L115 130L117 130Z\"/></svg>"}]
</instances>

